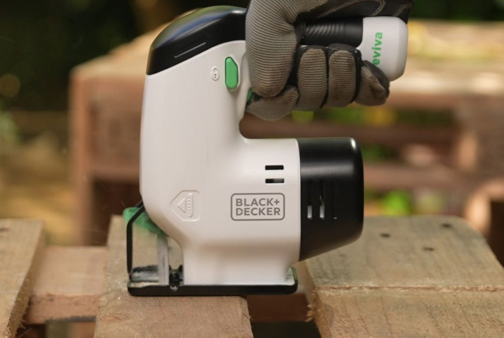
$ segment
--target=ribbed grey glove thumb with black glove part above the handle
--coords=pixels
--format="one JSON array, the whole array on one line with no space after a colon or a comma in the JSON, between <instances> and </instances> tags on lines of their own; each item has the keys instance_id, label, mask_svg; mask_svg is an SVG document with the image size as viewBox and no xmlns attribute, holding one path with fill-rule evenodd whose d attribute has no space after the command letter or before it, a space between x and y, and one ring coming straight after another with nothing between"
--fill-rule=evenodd
<instances>
[{"instance_id":1,"label":"ribbed grey glove thumb with black glove part above the handle","mask_svg":"<svg viewBox=\"0 0 504 338\"><path fill-rule=\"evenodd\" d=\"M245 20L250 83L256 93L280 93L294 65L306 20L322 17L399 16L407 20L412 0L251 0Z\"/></svg>"}]
</instances>

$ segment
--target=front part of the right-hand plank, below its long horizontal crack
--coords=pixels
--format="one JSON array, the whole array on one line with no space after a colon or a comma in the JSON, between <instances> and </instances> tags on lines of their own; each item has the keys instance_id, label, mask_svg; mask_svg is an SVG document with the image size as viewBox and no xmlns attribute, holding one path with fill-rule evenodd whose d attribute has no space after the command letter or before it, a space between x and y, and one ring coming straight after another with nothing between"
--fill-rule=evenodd
<instances>
[{"instance_id":1,"label":"front part of the right-hand plank, below its long horizontal crack","mask_svg":"<svg viewBox=\"0 0 504 338\"><path fill-rule=\"evenodd\" d=\"M501 291L340 290L315 312L323 337L501 337L502 304Z\"/></svg>"}]
</instances>

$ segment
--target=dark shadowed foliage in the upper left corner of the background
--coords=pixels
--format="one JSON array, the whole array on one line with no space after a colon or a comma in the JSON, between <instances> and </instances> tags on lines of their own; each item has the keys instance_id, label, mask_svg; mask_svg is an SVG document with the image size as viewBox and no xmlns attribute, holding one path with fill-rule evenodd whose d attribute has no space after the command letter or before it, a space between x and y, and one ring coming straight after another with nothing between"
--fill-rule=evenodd
<instances>
[{"instance_id":1,"label":"dark shadowed foliage in the upper left corner of the background","mask_svg":"<svg viewBox=\"0 0 504 338\"><path fill-rule=\"evenodd\" d=\"M70 69L138 34L122 0L2 0L0 77L13 74L20 91L9 106L67 106Z\"/></svg>"}]
</instances>

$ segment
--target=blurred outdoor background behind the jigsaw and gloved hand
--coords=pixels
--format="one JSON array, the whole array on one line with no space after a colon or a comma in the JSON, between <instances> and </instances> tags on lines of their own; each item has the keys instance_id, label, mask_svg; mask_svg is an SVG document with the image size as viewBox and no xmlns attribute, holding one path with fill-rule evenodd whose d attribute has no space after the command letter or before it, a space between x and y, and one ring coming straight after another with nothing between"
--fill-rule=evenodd
<instances>
[{"instance_id":1,"label":"blurred outdoor background behind the jigsaw and gloved hand","mask_svg":"<svg viewBox=\"0 0 504 338\"><path fill-rule=\"evenodd\" d=\"M247 1L3 0L0 217L53 244L103 244L135 204L148 47L197 7ZM406 74L385 106L242 121L248 137L352 136L367 215L471 220L504 261L504 0L419 0Z\"/></svg>"}]
</instances>

